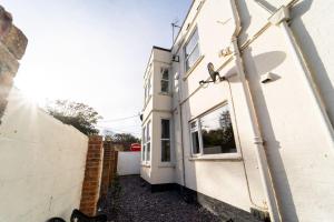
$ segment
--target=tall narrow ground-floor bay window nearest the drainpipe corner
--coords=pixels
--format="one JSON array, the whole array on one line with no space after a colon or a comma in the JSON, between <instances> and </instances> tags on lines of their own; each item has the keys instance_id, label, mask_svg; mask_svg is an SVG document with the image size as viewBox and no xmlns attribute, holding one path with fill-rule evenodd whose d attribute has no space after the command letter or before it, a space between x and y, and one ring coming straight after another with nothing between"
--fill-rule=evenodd
<instances>
[{"instance_id":1,"label":"tall narrow ground-floor bay window nearest the drainpipe corner","mask_svg":"<svg viewBox=\"0 0 334 222\"><path fill-rule=\"evenodd\" d=\"M161 162L170 162L170 120L161 119Z\"/></svg>"}]
</instances>

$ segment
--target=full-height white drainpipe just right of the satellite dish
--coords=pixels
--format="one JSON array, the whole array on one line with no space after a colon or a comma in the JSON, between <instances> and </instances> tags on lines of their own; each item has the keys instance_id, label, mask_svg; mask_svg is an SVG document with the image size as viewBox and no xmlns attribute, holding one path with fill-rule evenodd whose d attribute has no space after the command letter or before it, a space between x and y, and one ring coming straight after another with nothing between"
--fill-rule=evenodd
<instances>
[{"instance_id":1,"label":"full-height white drainpipe just right of the satellite dish","mask_svg":"<svg viewBox=\"0 0 334 222\"><path fill-rule=\"evenodd\" d=\"M262 139L259 127L258 127L258 120L257 120L257 115L255 112L252 93L249 91L249 85L246 80L243 59L239 53L239 46L238 46L238 39L237 39L238 34L242 30L239 12L238 12L238 8L236 6L235 0L230 0L230 6L232 6L232 10L233 10L233 14L234 14L234 22L235 22L235 31L232 37L235 63L236 63L236 68L237 68L237 74L239 77L240 82L243 83L243 88L244 88L243 92L246 98L247 111L248 111L248 115L252 121L252 132L253 132L253 137L254 137L254 143L256 147L255 153L256 153L257 163L258 163L258 168L259 168L261 179L262 179L262 183L263 183L266 199L267 199L267 204L268 204L267 206L268 206L268 211L269 211L271 221L272 222L278 222L278 221L281 222L282 216L281 216L281 212L279 212L277 196L275 193L275 188L274 188L272 176L271 176L271 169L268 167L266 152L265 152L265 149L263 145L263 139Z\"/></svg>"}]
</instances>

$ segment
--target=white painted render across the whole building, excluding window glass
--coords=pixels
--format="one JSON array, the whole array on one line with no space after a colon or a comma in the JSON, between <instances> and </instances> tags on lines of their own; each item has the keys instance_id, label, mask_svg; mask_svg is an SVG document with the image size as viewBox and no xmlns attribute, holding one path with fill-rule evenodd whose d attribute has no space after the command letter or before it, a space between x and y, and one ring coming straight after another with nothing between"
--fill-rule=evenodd
<instances>
[{"instance_id":1,"label":"white painted render across the whole building, excluding window glass","mask_svg":"<svg viewBox=\"0 0 334 222\"><path fill-rule=\"evenodd\" d=\"M144 120L153 121L153 159L141 168L141 176L153 184L179 183L245 211L268 210L272 203L265 188L272 188L278 203L276 221L331 221L333 125L326 121L334 120L331 3L299 0L291 9L289 28L285 21L277 26L268 23L272 13L288 0L236 0L243 27L238 37L246 78L243 80L233 56L235 26L230 2L195 0L171 53L153 49L149 64L158 69L161 63L171 63L174 87L171 97L159 94L160 77L153 72L153 107L143 110ZM185 72L183 47L195 29L200 57ZM222 50L232 53L222 57ZM173 62L171 54L179 56L180 61ZM158 57L161 59L154 59ZM198 82L209 78L208 62L228 81L200 87ZM262 83L267 77L272 81ZM189 121L220 103L229 105L237 155L195 158L190 152ZM257 139L252 130L257 125L249 115L249 104L254 104L272 182L263 182ZM174 124L174 159L167 169L159 167L161 117L170 117Z\"/></svg>"}]
</instances>

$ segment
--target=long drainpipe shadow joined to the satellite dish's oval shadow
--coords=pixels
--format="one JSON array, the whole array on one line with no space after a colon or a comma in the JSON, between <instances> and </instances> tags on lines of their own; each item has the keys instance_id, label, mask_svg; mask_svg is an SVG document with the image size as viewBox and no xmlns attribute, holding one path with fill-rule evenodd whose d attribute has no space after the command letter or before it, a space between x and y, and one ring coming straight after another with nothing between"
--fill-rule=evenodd
<instances>
[{"instance_id":1,"label":"long drainpipe shadow joined to the satellite dish's oval shadow","mask_svg":"<svg viewBox=\"0 0 334 222\"><path fill-rule=\"evenodd\" d=\"M288 215L283 215L283 219L285 220L288 219L289 221L298 221L295 204L292 198L291 188L288 184L288 179L279 153L279 149L282 147L279 144L279 141L277 141L275 137L269 111L266 105L266 100L261 85L261 75L271 72L281 63L283 63L286 56L282 51L273 51L273 52L262 53L258 56L253 56L252 49L248 49L244 51L243 57L245 60L247 60L246 70L255 70L254 73L257 73L254 74L254 77L248 78L248 81L252 85L250 91L253 94L253 100L256 104L255 111L258 113L258 110L261 109L261 118L258 119L258 122L261 125L262 134L265 141L271 142L269 147L265 145L265 148L268 154L268 164L272 169L272 173L274 172L273 180L274 180L274 184L276 184L275 190L278 196L284 196L283 199L278 199L279 205L289 209ZM256 89L256 91L254 89ZM277 172L278 174L276 174L275 172ZM277 186L278 181L279 181L279 189Z\"/></svg>"}]
</instances>

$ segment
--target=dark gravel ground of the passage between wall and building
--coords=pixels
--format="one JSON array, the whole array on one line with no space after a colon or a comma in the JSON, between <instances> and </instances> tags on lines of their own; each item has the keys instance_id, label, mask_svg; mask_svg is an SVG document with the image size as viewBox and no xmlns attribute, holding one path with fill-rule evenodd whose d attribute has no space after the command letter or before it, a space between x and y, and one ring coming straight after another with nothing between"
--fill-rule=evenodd
<instances>
[{"instance_id":1,"label":"dark gravel ground of the passage between wall and building","mask_svg":"<svg viewBox=\"0 0 334 222\"><path fill-rule=\"evenodd\" d=\"M139 175L120 176L119 184L119 195L111 189L102 203L109 222L220 221L198 204L186 203L176 191L151 193Z\"/></svg>"}]
</instances>

